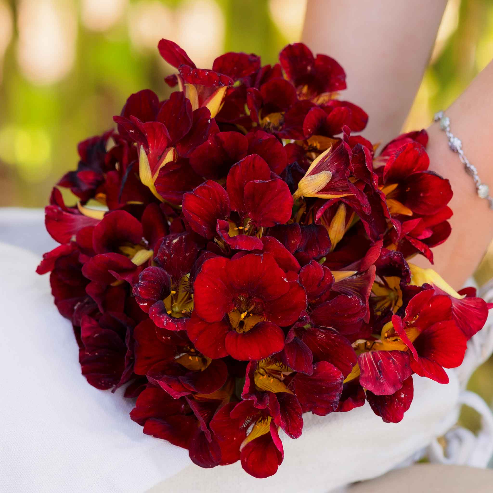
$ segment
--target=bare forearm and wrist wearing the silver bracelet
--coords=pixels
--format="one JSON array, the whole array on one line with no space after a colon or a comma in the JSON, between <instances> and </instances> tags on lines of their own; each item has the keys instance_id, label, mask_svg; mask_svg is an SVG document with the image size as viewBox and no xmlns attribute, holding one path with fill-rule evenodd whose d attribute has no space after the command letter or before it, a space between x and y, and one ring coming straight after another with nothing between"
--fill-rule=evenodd
<instances>
[{"instance_id":1,"label":"bare forearm and wrist wearing the silver bracelet","mask_svg":"<svg viewBox=\"0 0 493 493\"><path fill-rule=\"evenodd\" d=\"M490 186L493 196L493 62L483 70L450 106L452 133L462 141L462 149L481 180ZM433 249L434 269L456 289L472 274L493 238L493 210L480 199L472 178L467 175L458 155L448 148L445 133L438 123L429 129L430 169L448 178L454 197L450 207L452 234ZM424 258L413 259L426 266ZM429 264L428 264L429 266Z\"/></svg>"}]
</instances>

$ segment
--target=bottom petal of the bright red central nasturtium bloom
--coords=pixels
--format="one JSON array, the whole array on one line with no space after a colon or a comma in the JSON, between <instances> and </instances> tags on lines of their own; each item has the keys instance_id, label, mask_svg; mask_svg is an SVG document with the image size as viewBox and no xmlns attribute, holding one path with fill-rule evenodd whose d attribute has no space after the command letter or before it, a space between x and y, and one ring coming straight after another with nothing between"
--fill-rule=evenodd
<instances>
[{"instance_id":1,"label":"bottom petal of the bright red central nasturtium bloom","mask_svg":"<svg viewBox=\"0 0 493 493\"><path fill-rule=\"evenodd\" d=\"M248 332L232 330L226 335L226 351L239 361L264 359L283 347L284 333L272 322L258 322Z\"/></svg>"}]
</instances>

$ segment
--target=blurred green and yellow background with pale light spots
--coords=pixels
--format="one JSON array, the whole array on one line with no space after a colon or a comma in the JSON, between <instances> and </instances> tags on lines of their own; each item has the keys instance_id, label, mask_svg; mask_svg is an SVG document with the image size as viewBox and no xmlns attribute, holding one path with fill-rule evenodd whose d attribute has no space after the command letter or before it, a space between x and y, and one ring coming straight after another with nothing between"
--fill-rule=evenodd
<instances>
[{"instance_id":1,"label":"blurred green and yellow background with pale light spots","mask_svg":"<svg viewBox=\"0 0 493 493\"><path fill-rule=\"evenodd\" d=\"M225 51L276 61L299 40L306 0L0 0L0 206L42 207L77 164L77 142L111 127L126 98L164 98L161 37L198 66ZM330 55L330 53L328 53ZM493 1L449 0L407 129L429 125L493 58ZM348 81L351 84L351 80ZM493 275L493 250L477 273ZM493 401L493 360L470 388ZM478 426L471 411L462 420Z\"/></svg>"}]
</instances>

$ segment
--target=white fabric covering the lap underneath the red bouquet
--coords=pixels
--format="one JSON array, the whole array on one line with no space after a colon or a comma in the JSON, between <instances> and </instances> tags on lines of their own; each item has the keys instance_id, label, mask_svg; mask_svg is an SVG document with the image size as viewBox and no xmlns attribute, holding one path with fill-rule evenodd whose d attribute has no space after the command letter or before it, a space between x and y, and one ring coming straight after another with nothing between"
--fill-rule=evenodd
<instances>
[{"instance_id":1,"label":"white fabric covering the lap underneath the red bouquet","mask_svg":"<svg viewBox=\"0 0 493 493\"><path fill-rule=\"evenodd\" d=\"M285 459L273 478L251 478L238 463L190 467L186 451L143 435L121 393L97 390L81 376L70 322L53 305L48 276L34 272L40 254L56 245L42 212L0 210L0 241L16 245L0 244L0 492L140 493L171 478L163 491L324 493L421 454L457 421L455 372L446 386L415 376L401 423L383 423L368 405L305 415L303 435L283 437Z\"/></svg>"}]
</instances>

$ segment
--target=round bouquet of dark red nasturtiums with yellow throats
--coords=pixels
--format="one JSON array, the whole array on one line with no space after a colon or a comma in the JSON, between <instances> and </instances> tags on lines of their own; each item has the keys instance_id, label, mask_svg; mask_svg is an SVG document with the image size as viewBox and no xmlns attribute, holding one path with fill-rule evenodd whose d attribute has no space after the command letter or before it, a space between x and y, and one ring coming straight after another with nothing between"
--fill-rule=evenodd
<instances>
[{"instance_id":1,"label":"round bouquet of dark red nasturtiums with yellow throats","mask_svg":"<svg viewBox=\"0 0 493 493\"><path fill-rule=\"evenodd\" d=\"M368 401L399 422L413 373L446 384L490 308L408 263L451 231L426 132L377 154L354 135L368 115L337 99L342 67L301 43L274 66L226 53L211 70L159 51L176 91L130 96L57 183L76 205L54 188L46 208L61 245L37 272L82 374L125 386L130 418L196 464L259 478L304 413Z\"/></svg>"}]
</instances>

